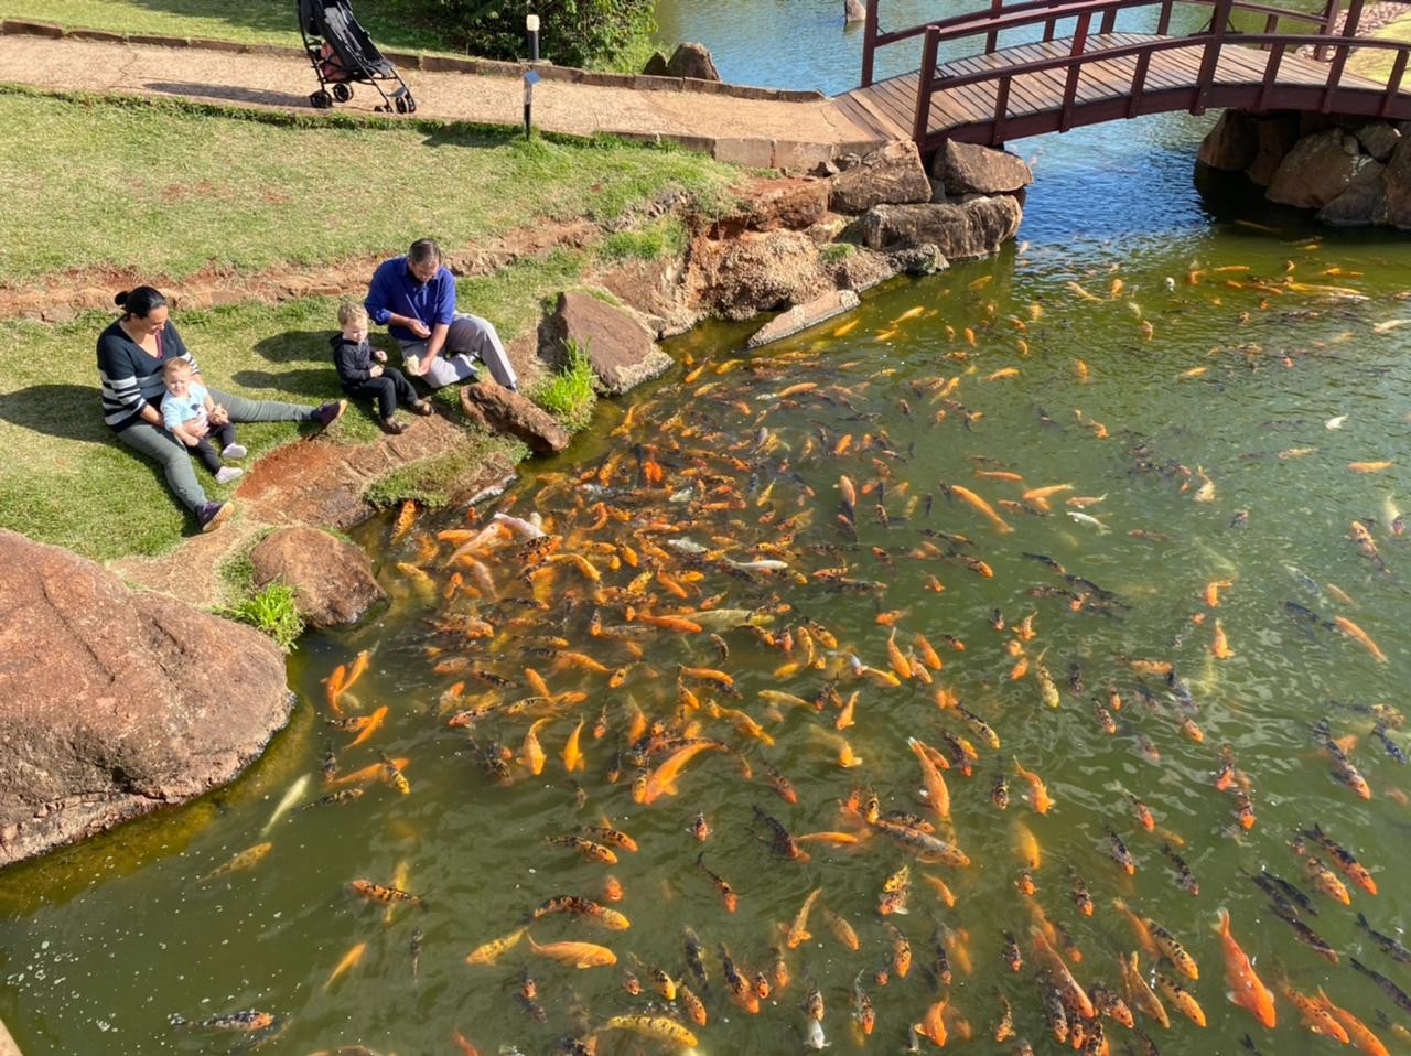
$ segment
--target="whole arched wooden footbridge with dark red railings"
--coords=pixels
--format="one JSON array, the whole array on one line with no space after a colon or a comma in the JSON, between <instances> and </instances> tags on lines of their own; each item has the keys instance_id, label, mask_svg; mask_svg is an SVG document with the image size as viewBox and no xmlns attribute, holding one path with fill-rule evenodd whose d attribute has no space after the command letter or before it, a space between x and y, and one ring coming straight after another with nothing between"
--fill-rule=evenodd
<instances>
[{"instance_id":1,"label":"whole arched wooden footbridge with dark red railings","mask_svg":"<svg viewBox=\"0 0 1411 1056\"><path fill-rule=\"evenodd\" d=\"M1208 8L1209 18L1201 11L1202 28L1173 35L1177 3ZM1411 44L1357 37L1363 0L1352 0L1339 25L1340 3L1292 11L1253 0L992 0L988 8L883 31L880 0L868 0L862 86L835 102L889 138L914 140L923 154L944 140L999 145L1170 110L1411 119L1411 92L1401 90ZM1140 8L1123 21L1143 21L1154 32L1119 32L1118 17ZM1257 27L1260 18L1260 32L1236 28ZM1284 23L1307 31L1278 32ZM1002 34L1023 42L1000 47ZM920 69L873 80L878 49L916 37L923 38ZM941 62L943 48L965 58ZM1393 56L1384 83L1346 71L1349 54L1360 48Z\"/></svg>"}]
</instances>

